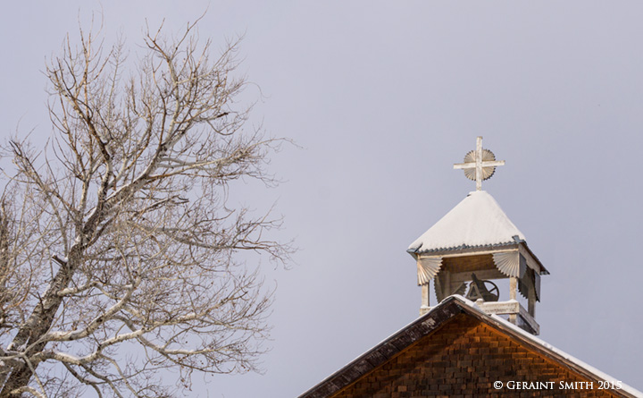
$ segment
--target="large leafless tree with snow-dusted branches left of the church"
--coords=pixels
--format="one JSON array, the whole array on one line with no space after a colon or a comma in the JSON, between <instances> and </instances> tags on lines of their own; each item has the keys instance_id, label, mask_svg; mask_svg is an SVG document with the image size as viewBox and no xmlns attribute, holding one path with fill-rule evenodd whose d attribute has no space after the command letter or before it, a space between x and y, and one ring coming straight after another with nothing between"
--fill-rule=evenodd
<instances>
[{"instance_id":1,"label":"large leafless tree with snow-dusted branches left of the church","mask_svg":"<svg viewBox=\"0 0 643 398\"><path fill-rule=\"evenodd\" d=\"M227 203L232 180L272 182L280 143L243 129L238 43L213 59L194 24L148 32L125 78L121 44L80 33L46 68L50 145L4 147L0 397L170 396L195 370L255 370L271 292L238 255L290 248Z\"/></svg>"}]
</instances>

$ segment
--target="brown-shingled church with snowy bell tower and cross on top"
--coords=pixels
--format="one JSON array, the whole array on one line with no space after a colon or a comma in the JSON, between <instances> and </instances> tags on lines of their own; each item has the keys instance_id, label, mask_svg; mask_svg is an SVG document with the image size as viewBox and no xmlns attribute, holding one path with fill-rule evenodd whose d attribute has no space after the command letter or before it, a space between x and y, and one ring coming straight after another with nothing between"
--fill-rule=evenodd
<instances>
[{"instance_id":1,"label":"brown-shingled church with snowy bell tower and cross on top","mask_svg":"<svg viewBox=\"0 0 643 398\"><path fill-rule=\"evenodd\" d=\"M504 164L478 137L476 149L454 165L476 191L409 246L422 290L420 318L300 398L643 397L537 337L540 279L549 272L481 189Z\"/></svg>"}]
</instances>

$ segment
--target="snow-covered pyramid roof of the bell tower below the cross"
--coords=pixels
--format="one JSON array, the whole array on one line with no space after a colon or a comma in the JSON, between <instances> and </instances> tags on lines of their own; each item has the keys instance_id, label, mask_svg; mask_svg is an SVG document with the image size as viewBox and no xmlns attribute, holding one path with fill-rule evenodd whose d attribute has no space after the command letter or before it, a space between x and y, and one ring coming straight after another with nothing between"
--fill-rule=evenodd
<instances>
[{"instance_id":1,"label":"snow-covered pyramid roof of the bell tower below the cross","mask_svg":"<svg viewBox=\"0 0 643 398\"><path fill-rule=\"evenodd\" d=\"M473 191L411 243L411 253L500 246L524 235L486 191Z\"/></svg>"}]
</instances>

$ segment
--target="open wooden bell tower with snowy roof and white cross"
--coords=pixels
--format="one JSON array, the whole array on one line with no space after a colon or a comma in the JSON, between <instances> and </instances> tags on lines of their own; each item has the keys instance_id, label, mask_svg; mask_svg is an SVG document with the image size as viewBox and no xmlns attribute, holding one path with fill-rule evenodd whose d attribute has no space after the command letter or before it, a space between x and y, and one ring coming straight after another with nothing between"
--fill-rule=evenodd
<instances>
[{"instance_id":1,"label":"open wooden bell tower with snowy roof and white cross","mask_svg":"<svg viewBox=\"0 0 643 398\"><path fill-rule=\"evenodd\" d=\"M476 182L476 191L409 246L422 287L420 315L431 309L432 281L438 302L460 294L487 314L505 316L514 325L539 334L535 317L540 276L549 272L497 201L482 191L482 181L489 179L498 165L505 165L505 161L497 161L493 152L482 148L482 137L478 137L476 149L467 153L463 163L454 165ZM508 292L506 287L498 287L507 279ZM518 294L527 301L526 309Z\"/></svg>"}]
</instances>

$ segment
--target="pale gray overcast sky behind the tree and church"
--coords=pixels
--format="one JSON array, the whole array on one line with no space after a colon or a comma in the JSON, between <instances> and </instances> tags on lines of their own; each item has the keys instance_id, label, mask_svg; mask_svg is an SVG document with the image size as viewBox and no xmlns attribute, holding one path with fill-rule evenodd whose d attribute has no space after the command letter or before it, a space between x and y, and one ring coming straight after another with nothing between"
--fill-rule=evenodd
<instances>
[{"instance_id":1,"label":"pale gray overcast sky behind the tree and church","mask_svg":"<svg viewBox=\"0 0 643 398\"><path fill-rule=\"evenodd\" d=\"M45 59L101 12L62 3L4 5L4 136L51 132ZM506 161L483 189L551 272L540 337L643 389L643 4L119 0L104 29L134 56L145 19L178 32L208 4L203 38L246 35L253 122L303 147L273 157L278 188L240 187L259 210L277 201L300 251L266 267L265 375L196 377L195 394L300 394L416 318L406 247L474 190L452 165L478 135Z\"/></svg>"}]
</instances>

